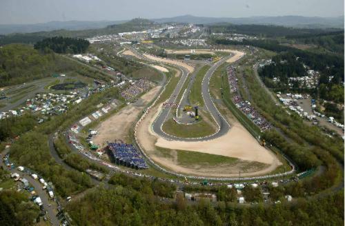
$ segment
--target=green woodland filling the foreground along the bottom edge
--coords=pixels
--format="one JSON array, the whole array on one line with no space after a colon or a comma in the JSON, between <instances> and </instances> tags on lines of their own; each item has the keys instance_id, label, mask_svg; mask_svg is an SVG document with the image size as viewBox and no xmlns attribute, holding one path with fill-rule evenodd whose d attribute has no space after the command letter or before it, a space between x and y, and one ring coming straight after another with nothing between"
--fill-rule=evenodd
<instances>
[{"instance_id":1,"label":"green woodland filling the foreground along the bottom edge","mask_svg":"<svg viewBox=\"0 0 345 226\"><path fill-rule=\"evenodd\" d=\"M338 192L280 205L248 207L207 201L188 205L182 196L173 203L159 202L130 187L117 186L90 192L68 203L66 209L77 225L342 225L343 200L344 192Z\"/></svg>"}]
</instances>

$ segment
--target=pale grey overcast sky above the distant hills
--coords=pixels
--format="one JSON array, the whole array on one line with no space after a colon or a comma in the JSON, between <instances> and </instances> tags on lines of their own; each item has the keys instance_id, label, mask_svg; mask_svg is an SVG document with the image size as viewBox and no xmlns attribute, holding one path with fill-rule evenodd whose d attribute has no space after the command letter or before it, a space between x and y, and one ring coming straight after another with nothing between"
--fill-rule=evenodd
<instances>
[{"instance_id":1,"label":"pale grey overcast sky above the distant hills","mask_svg":"<svg viewBox=\"0 0 345 226\"><path fill-rule=\"evenodd\" d=\"M344 15L344 0L0 0L0 23L204 17Z\"/></svg>"}]
</instances>

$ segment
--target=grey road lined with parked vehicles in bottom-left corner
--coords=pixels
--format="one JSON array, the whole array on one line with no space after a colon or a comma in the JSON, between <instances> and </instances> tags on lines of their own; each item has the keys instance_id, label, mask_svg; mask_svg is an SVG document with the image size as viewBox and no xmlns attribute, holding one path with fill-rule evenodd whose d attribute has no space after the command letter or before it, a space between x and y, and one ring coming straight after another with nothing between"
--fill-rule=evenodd
<instances>
[{"instance_id":1,"label":"grey road lined with parked vehicles in bottom-left corner","mask_svg":"<svg viewBox=\"0 0 345 226\"><path fill-rule=\"evenodd\" d=\"M8 153L8 151L9 151L9 149L5 150L1 154L5 155ZM1 160L0 165L3 165L3 167L5 169L7 168L2 160ZM37 181L37 180L34 180L34 178L32 178L29 174L27 174L25 172L20 172L19 170L17 170L17 168L10 170L10 172L11 172L11 174L17 173L21 176L21 178L26 178L28 180L30 185L32 185L32 187L34 187L34 191L36 192L36 194L41 198L41 201L43 203L43 207L48 212L48 216L49 216L49 219L50 219L50 222L52 223L52 225L59 225L60 220L56 216L57 212L55 212L55 209L57 209L57 203L53 202L53 201L49 202L48 193L46 192L46 190L43 190L43 188L42 188L43 186L41 185L41 183L39 183L39 181Z\"/></svg>"}]
</instances>

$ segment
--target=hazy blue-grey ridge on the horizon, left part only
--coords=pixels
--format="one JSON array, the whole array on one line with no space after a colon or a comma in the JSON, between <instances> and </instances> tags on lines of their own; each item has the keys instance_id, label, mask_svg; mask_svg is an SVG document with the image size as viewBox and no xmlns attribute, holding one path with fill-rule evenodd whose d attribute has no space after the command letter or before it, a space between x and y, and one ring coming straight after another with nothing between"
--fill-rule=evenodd
<instances>
[{"instance_id":1,"label":"hazy blue-grey ridge on the horizon, left part only","mask_svg":"<svg viewBox=\"0 0 345 226\"><path fill-rule=\"evenodd\" d=\"M0 24L0 34L97 29L124 22L126 21L51 21L34 24Z\"/></svg>"}]
</instances>

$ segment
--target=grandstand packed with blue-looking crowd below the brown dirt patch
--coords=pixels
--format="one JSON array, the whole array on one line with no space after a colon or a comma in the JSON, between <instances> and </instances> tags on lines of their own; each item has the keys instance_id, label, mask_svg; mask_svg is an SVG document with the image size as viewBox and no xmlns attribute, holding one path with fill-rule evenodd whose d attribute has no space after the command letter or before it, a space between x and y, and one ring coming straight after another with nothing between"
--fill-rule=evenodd
<instances>
[{"instance_id":1,"label":"grandstand packed with blue-looking crowd below the brown dirt patch","mask_svg":"<svg viewBox=\"0 0 345 226\"><path fill-rule=\"evenodd\" d=\"M108 143L107 149L115 163L119 165L136 169L148 169L148 165L140 152L131 144L115 141L115 143Z\"/></svg>"}]
</instances>

